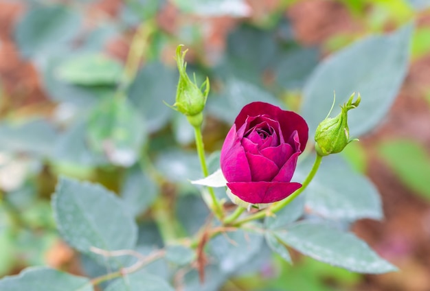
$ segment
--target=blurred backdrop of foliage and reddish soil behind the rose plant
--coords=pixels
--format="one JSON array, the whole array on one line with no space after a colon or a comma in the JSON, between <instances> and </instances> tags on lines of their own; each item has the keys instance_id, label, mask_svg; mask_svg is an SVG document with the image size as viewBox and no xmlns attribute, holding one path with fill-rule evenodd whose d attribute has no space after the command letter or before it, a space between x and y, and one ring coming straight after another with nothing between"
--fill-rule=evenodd
<instances>
[{"instance_id":1,"label":"blurred backdrop of foliage and reddish soil behind the rose plant","mask_svg":"<svg viewBox=\"0 0 430 291\"><path fill-rule=\"evenodd\" d=\"M352 229L401 271L357 275L293 253L294 266L275 257L275 267L227 281L221 290L430 290L429 2L0 0L0 276L41 264L84 272L52 218L49 197L60 174L124 194L136 180L130 169L136 148L147 139L156 166L170 168L168 179L199 177L189 154L192 129L161 102L174 102L179 43L189 49L188 69L197 80L208 75L218 95L210 96L204 128L212 152L243 104L261 100L297 110L321 60L413 21L407 77L394 106L343 153L376 185L385 212L383 220L360 220ZM93 110L122 85L146 126L126 128L135 133L106 145L100 139L109 135L103 125L110 121ZM197 174L183 163L197 165ZM134 202L142 221L152 196L146 199Z\"/></svg>"}]
</instances>

